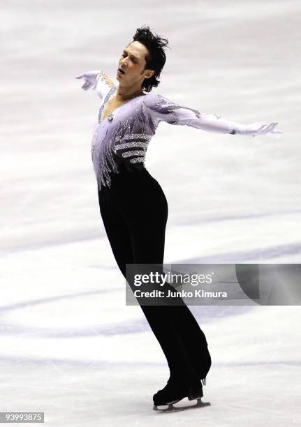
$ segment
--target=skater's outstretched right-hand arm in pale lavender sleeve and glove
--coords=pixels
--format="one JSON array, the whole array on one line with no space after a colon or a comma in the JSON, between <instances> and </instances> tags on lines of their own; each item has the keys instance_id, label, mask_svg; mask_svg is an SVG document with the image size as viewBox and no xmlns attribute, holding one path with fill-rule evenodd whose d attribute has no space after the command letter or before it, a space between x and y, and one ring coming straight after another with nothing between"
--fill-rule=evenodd
<instances>
[{"instance_id":1,"label":"skater's outstretched right-hand arm in pale lavender sleeve and glove","mask_svg":"<svg viewBox=\"0 0 301 427\"><path fill-rule=\"evenodd\" d=\"M176 105L159 93L145 97L145 105L154 121L166 121L175 125L186 125L214 133L230 133L232 135L263 135L265 133L282 133L274 130L278 122L251 124L235 123L212 113L199 112L193 108Z\"/></svg>"}]
</instances>

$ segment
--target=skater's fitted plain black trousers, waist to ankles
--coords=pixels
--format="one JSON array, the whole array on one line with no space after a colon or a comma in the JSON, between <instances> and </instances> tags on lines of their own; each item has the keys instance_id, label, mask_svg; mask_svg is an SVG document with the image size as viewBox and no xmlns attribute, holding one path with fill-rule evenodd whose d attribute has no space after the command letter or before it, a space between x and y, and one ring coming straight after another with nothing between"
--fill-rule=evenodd
<instances>
[{"instance_id":1,"label":"skater's fitted plain black trousers, waist to ankles","mask_svg":"<svg viewBox=\"0 0 301 427\"><path fill-rule=\"evenodd\" d=\"M168 202L145 167L114 157L119 174L110 174L110 188L98 189L98 201L112 252L126 278L127 263L163 264ZM211 357L205 334L181 301L180 306L140 307L166 356L170 379L186 383L207 375Z\"/></svg>"}]
</instances>

